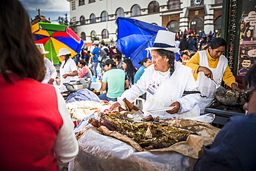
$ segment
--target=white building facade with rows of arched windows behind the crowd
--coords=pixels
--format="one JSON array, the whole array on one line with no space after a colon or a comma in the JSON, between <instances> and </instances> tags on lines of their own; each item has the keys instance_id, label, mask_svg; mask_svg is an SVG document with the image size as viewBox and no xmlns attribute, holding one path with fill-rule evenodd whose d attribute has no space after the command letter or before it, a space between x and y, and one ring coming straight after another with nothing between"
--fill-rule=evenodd
<instances>
[{"instance_id":1,"label":"white building facade with rows of arched windows behind the crowd","mask_svg":"<svg viewBox=\"0 0 256 171\"><path fill-rule=\"evenodd\" d=\"M71 21L86 43L117 39L116 19L129 17L154 23L172 32L221 28L222 0L67 0Z\"/></svg>"}]
</instances>

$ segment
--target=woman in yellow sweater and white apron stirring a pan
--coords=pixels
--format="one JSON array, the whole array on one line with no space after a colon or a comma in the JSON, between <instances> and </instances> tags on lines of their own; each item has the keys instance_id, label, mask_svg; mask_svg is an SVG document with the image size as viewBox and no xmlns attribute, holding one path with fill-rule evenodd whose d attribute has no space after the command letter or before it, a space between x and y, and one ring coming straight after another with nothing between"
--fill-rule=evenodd
<instances>
[{"instance_id":1,"label":"woman in yellow sweater and white apron stirring a pan","mask_svg":"<svg viewBox=\"0 0 256 171\"><path fill-rule=\"evenodd\" d=\"M196 52L186 64L194 71L194 80L199 85L199 91L201 92L199 107L202 114L205 107L208 107L215 97L216 86L211 79L219 84L223 79L226 85L230 86L234 92L241 92L228 66L228 59L223 56L226 46L227 43L223 38L212 39L206 50Z\"/></svg>"}]
</instances>

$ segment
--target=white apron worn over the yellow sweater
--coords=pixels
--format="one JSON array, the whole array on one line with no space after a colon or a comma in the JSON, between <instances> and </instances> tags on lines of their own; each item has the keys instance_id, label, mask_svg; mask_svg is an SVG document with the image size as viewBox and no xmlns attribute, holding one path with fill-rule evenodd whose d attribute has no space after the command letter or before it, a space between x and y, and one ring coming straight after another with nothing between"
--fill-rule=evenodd
<instances>
[{"instance_id":1,"label":"white apron worn over the yellow sweater","mask_svg":"<svg viewBox=\"0 0 256 171\"><path fill-rule=\"evenodd\" d=\"M228 60L225 56L219 57L217 68L210 68L208 64L207 52L205 50L199 51L199 66L204 66L212 71L213 79L217 83L221 83L224 71L228 65ZM200 113L203 114L206 107L208 107L215 97L216 86L208 77L205 77L203 72L199 72L196 83L198 83L201 96L199 99Z\"/></svg>"}]
</instances>

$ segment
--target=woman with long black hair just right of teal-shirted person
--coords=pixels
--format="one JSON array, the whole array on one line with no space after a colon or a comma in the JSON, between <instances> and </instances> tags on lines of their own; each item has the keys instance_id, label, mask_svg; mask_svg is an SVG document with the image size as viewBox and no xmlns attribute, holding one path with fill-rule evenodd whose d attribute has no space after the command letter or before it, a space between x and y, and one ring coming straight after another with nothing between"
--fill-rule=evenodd
<instances>
[{"instance_id":1,"label":"woman with long black hair just right of teal-shirted person","mask_svg":"<svg viewBox=\"0 0 256 171\"><path fill-rule=\"evenodd\" d=\"M129 88L131 88L131 85L134 85L134 75L136 73L136 68L131 63L130 59L125 59L122 61L122 68L125 70L125 80L129 81Z\"/></svg>"}]
</instances>

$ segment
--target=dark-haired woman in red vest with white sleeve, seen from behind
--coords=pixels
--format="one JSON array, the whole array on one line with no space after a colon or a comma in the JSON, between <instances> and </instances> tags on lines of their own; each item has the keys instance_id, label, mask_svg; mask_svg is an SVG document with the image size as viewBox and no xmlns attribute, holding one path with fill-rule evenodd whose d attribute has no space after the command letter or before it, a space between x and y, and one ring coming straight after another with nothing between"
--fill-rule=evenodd
<instances>
[{"instance_id":1,"label":"dark-haired woman in red vest with white sleeve, seen from behind","mask_svg":"<svg viewBox=\"0 0 256 171\"><path fill-rule=\"evenodd\" d=\"M78 153L62 94L45 77L21 1L0 1L0 170L62 170ZM71 59L72 60L72 59Z\"/></svg>"}]
</instances>

